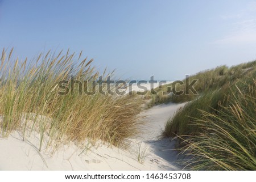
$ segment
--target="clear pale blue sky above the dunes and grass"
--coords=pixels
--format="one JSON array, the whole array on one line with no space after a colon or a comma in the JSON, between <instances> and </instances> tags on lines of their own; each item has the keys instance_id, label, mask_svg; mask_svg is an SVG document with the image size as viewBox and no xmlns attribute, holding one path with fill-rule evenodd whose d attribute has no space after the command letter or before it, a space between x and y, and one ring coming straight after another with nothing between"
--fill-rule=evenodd
<instances>
[{"instance_id":1,"label":"clear pale blue sky above the dunes and grass","mask_svg":"<svg viewBox=\"0 0 256 182\"><path fill-rule=\"evenodd\" d=\"M123 79L186 74L256 59L256 1L0 0L0 49L20 59L61 49Z\"/></svg>"}]
</instances>

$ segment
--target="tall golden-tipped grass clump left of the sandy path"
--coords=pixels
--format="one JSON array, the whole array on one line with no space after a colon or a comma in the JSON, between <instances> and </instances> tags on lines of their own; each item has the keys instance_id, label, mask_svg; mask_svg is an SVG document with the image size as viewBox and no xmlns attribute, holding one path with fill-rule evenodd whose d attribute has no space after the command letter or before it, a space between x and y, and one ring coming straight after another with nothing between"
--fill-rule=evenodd
<instances>
[{"instance_id":1,"label":"tall golden-tipped grass clump left of the sandy path","mask_svg":"<svg viewBox=\"0 0 256 182\"><path fill-rule=\"evenodd\" d=\"M138 113L142 99L134 96L79 94L60 95L58 83L72 75L76 80L88 80L86 88L92 90L92 80L100 73L92 66L93 60L81 60L81 54L40 54L30 62L12 58L2 51L0 67L1 133L8 137L13 130L26 134L38 130L40 146L85 139L101 139L112 145L121 145L123 139L138 132ZM75 60L75 61L74 61ZM103 79L106 77L103 73ZM97 87L96 87L97 88ZM42 118L42 116L44 118ZM46 119L48 118L48 119ZM47 136L47 141L44 138Z\"/></svg>"}]
</instances>

